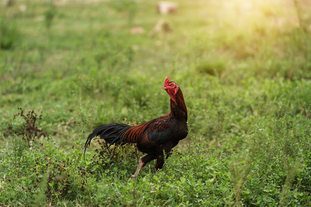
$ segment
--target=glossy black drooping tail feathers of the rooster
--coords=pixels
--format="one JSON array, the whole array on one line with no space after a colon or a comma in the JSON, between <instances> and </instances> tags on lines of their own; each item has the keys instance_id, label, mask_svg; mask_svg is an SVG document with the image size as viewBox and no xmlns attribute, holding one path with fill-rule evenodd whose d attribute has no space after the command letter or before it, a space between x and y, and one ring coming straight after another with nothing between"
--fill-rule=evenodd
<instances>
[{"instance_id":1,"label":"glossy black drooping tail feathers of the rooster","mask_svg":"<svg viewBox=\"0 0 311 207\"><path fill-rule=\"evenodd\" d=\"M97 136L100 136L100 139L105 139L106 144L124 144L125 140L123 140L123 135L129 128L131 128L131 126L117 123L99 126L87 137L85 151L87 150L87 146L91 144L91 140ZM85 157L85 152L83 157Z\"/></svg>"}]
</instances>

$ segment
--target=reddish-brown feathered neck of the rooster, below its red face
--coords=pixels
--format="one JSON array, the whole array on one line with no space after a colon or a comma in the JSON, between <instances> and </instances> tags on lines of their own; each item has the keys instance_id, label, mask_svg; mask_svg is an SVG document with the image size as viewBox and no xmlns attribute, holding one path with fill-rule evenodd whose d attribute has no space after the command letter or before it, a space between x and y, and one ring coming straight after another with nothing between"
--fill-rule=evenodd
<instances>
[{"instance_id":1,"label":"reddish-brown feathered neck of the rooster, below its red face","mask_svg":"<svg viewBox=\"0 0 311 207\"><path fill-rule=\"evenodd\" d=\"M177 118L179 121L187 122L188 112L184 95L179 88L176 92L176 102L170 99L170 115Z\"/></svg>"}]
</instances>

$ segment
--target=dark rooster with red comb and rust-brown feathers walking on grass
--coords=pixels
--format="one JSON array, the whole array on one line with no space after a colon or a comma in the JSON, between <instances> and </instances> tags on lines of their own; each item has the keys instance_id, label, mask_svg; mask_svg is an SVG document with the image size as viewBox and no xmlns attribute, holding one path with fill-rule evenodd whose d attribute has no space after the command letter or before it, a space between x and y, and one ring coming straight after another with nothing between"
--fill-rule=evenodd
<instances>
[{"instance_id":1,"label":"dark rooster with red comb and rust-brown feathers walking on grass","mask_svg":"<svg viewBox=\"0 0 311 207\"><path fill-rule=\"evenodd\" d=\"M138 126L117 123L99 126L87 137L85 150L96 136L105 139L106 144L110 145L136 143L139 151L147 155L139 161L136 172L132 175L133 179L136 179L141 168L153 159L157 159L155 170L161 169L164 157L167 159L172 148L188 135L188 112L181 89L177 83L167 78L162 90L166 90L170 96L170 113L168 115L152 119Z\"/></svg>"}]
</instances>

